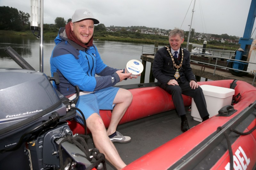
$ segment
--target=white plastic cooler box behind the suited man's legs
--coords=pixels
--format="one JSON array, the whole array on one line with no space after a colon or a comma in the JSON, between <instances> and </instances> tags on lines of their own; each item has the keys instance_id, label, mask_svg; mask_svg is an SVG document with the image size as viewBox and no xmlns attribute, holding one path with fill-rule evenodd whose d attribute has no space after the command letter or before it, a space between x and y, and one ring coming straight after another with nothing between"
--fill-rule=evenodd
<instances>
[{"instance_id":1,"label":"white plastic cooler box behind the suited man's legs","mask_svg":"<svg viewBox=\"0 0 256 170\"><path fill-rule=\"evenodd\" d=\"M213 85L201 85L204 92L204 98L207 105L209 117L218 114L218 111L227 105L231 105L232 97L235 94L234 89L218 87ZM196 104L192 98L191 116L195 121L202 122L202 119L197 110Z\"/></svg>"}]
</instances>

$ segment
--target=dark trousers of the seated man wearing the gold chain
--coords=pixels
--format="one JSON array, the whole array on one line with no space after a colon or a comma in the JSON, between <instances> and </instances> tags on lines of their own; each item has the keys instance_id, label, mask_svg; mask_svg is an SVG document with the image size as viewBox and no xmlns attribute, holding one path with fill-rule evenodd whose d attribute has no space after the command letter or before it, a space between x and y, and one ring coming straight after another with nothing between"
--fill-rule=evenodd
<instances>
[{"instance_id":1,"label":"dark trousers of the seated man wearing the gold chain","mask_svg":"<svg viewBox=\"0 0 256 170\"><path fill-rule=\"evenodd\" d=\"M178 115L186 115L186 110L181 94L190 96L194 99L198 112L201 118L209 116L207 111L206 101L204 93L201 87L198 86L196 89L191 89L189 82L179 82L179 85L159 85L165 91L172 95L173 104L178 112Z\"/></svg>"}]
</instances>

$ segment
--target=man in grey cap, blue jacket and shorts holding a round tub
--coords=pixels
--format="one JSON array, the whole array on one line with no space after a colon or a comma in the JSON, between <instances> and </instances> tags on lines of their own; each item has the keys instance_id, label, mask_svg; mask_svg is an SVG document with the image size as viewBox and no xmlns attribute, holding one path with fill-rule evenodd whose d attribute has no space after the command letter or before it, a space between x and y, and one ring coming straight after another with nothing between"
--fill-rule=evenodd
<instances>
[{"instance_id":1,"label":"man in grey cap, blue jacket and shorts holding a round tub","mask_svg":"<svg viewBox=\"0 0 256 170\"><path fill-rule=\"evenodd\" d=\"M80 114L84 114L96 148L104 153L113 166L121 169L126 165L113 143L131 140L117 132L116 127L132 102L132 93L113 86L124 79L132 79L132 73L103 63L92 43L94 24L99 24L99 21L91 11L83 8L75 11L72 21L65 28L60 28L50 59L52 76L57 72L60 84L53 83L53 86L72 100L76 96L75 86L78 85L80 96L76 107L83 113L77 114L76 121L83 124ZM95 77L95 74L98 76ZM100 109L113 110L107 130L100 117Z\"/></svg>"}]
</instances>

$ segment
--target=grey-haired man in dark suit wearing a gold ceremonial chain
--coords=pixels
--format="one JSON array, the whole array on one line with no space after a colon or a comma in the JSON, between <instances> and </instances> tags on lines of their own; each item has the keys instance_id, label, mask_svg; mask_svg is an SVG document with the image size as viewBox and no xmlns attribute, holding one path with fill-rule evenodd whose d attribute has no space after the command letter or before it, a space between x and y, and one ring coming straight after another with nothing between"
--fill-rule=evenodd
<instances>
[{"instance_id":1,"label":"grey-haired man in dark suit wearing a gold ceremonial chain","mask_svg":"<svg viewBox=\"0 0 256 170\"><path fill-rule=\"evenodd\" d=\"M159 86L172 94L173 104L181 118L181 130L189 129L186 110L181 94L194 99L203 121L209 119L203 90L196 83L190 67L189 51L180 48L184 41L184 32L178 28L169 33L169 46L160 48L154 59L152 72Z\"/></svg>"}]
</instances>

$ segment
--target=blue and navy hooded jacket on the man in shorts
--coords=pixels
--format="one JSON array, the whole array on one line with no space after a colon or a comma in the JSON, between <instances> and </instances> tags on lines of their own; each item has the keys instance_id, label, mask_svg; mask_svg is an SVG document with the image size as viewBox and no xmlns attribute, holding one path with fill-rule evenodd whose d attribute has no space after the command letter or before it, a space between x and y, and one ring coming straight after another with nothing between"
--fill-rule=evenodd
<instances>
[{"instance_id":1,"label":"blue and navy hooded jacket on the man in shorts","mask_svg":"<svg viewBox=\"0 0 256 170\"><path fill-rule=\"evenodd\" d=\"M50 58L51 74L58 73L60 84L53 82L53 86L64 96L76 93L76 85L80 91L93 92L120 81L116 73L118 69L104 64L94 45L88 48L77 45L67 38L65 28L60 28L54 41L56 46ZM99 76L95 77L95 74Z\"/></svg>"}]
</instances>

